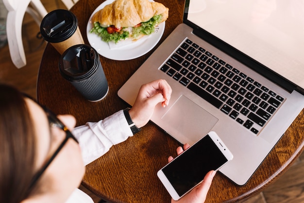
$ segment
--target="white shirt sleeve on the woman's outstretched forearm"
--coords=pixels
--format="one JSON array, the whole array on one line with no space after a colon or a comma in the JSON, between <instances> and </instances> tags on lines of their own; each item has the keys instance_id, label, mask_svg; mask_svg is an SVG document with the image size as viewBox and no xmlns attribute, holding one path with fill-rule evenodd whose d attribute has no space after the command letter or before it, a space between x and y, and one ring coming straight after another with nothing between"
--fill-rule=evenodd
<instances>
[{"instance_id":1,"label":"white shirt sleeve on the woman's outstretched forearm","mask_svg":"<svg viewBox=\"0 0 304 203\"><path fill-rule=\"evenodd\" d=\"M85 165L101 157L113 145L133 136L123 110L99 122L87 122L74 128L72 133L79 141Z\"/></svg>"}]
</instances>

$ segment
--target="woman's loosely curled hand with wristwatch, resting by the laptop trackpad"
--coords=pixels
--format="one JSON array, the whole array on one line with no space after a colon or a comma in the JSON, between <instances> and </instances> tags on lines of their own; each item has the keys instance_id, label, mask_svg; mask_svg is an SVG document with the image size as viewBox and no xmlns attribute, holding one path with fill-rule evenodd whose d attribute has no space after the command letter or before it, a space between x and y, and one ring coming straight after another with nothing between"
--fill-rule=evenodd
<instances>
[{"instance_id":1,"label":"woman's loosely curled hand with wristwatch, resting by the laptop trackpad","mask_svg":"<svg viewBox=\"0 0 304 203\"><path fill-rule=\"evenodd\" d=\"M146 125L152 117L155 106L161 103L168 106L172 89L165 80L155 80L142 85L129 114L138 128Z\"/></svg>"}]
</instances>

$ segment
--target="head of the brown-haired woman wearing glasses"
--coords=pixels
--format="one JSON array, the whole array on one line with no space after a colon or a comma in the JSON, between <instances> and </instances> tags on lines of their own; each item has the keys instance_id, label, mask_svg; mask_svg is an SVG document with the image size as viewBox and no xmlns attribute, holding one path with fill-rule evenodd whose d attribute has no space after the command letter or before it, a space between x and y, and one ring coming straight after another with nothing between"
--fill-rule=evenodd
<instances>
[{"instance_id":1,"label":"head of the brown-haired woman wearing glasses","mask_svg":"<svg viewBox=\"0 0 304 203\"><path fill-rule=\"evenodd\" d=\"M0 202L64 202L84 174L78 143L35 101L7 85L0 92ZM59 118L75 126L72 116Z\"/></svg>"}]
</instances>

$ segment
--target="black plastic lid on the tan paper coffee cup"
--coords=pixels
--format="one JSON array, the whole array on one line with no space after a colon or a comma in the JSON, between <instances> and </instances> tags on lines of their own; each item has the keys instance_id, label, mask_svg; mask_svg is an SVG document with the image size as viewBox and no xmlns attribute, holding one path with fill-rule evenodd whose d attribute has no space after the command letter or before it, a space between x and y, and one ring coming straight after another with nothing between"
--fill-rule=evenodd
<instances>
[{"instance_id":1,"label":"black plastic lid on the tan paper coffee cup","mask_svg":"<svg viewBox=\"0 0 304 203\"><path fill-rule=\"evenodd\" d=\"M72 36L78 26L75 15L64 9L51 11L40 24L42 37L51 43L58 43L67 40Z\"/></svg>"}]
</instances>

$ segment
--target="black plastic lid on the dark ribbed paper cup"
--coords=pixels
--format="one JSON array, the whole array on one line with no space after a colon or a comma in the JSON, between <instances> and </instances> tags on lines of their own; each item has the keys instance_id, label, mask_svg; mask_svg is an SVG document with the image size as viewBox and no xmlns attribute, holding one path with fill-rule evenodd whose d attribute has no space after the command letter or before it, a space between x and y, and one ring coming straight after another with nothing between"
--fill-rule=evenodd
<instances>
[{"instance_id":1,"label":"black plastic lid on the dark ribbed paper cup","mask_svg":"<svg viewBox=\"0 0 304 203\"><path fill-rule=\"evenodd\" d=\"M59 60L61 75L68 81L80 81L90 77L99 66L99 55L90 46L74 45Z\"/></svg>"}]
</instances>

